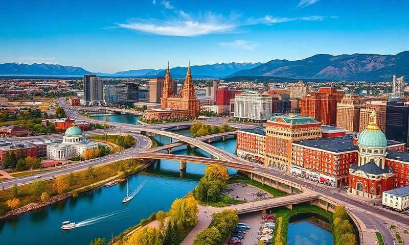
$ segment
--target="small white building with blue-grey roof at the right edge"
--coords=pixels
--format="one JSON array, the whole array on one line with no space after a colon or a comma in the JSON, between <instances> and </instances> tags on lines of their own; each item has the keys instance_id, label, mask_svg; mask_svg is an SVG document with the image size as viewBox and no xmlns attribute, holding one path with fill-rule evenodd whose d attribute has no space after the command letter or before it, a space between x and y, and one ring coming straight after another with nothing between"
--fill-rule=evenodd
<instances>
[{"instance_id":1,"label":"small white building with blue-grey roof at the right edge","mask_svg":"<svg viewBox=\"0 0 409 245\"><path fill-rule=\"evenodd\" d=\"M396 210L409 208L409 186L383 191L382 204Z\"/></svg>"}]
</instances>

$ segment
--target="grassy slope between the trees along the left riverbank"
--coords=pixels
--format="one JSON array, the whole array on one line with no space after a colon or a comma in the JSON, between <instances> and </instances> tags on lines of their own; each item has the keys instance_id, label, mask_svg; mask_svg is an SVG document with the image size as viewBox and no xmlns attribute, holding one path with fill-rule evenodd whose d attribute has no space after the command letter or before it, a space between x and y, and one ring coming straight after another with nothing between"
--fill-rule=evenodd
<instances>
[{"instance_id":1,"label":"grassy slope between the trees along the left riverbank","mask_svg":"<svg viewBox=\"0 0 409 245\"><path fill-rule=\"evenodd\" d=\"M90 177L88 169L79 171L77 173L74 173L74 182L65 192L70 192L83 186L88 186L90 184L116 176L118 175L119 169L121 168L125 170L125 176L135 174L140 170L142 163L143 162L139 160L126 159L104 166L94 167L92 177ZM54 180L46 180L43 182L43 191L47 192L50 197L58 194L57 191L53 188ZM20 207L32 202L39 201L38 197L34 197L34 195L32 194L33 185L34 184L32 183L18 186L18 193L16 198L20 200ZM13 198L14 196L12 194L11 188L0 191L0 215L9 211L9 208L6 205L6 201Z\"/></svg>"}]
</instances>

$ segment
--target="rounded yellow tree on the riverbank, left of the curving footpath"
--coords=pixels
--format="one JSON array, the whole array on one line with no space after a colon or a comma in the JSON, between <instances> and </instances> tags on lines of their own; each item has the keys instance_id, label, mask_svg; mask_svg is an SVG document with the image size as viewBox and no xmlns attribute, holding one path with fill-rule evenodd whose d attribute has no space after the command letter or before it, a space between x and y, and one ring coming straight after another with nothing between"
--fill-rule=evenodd
<instances>
[{"instance_id":1,"label":"rounded yellow tree on the riverbank, left of the curving footpath","mask_svg":"<svg viewBox=\"0 0 409 245\"><path fill-rule=\"evenodd\" d=\"M197 201L194 197L176 199L169 210L172 222L176 223L182 230L195 226L198 222Z\"/></svg>"}]
</instances>

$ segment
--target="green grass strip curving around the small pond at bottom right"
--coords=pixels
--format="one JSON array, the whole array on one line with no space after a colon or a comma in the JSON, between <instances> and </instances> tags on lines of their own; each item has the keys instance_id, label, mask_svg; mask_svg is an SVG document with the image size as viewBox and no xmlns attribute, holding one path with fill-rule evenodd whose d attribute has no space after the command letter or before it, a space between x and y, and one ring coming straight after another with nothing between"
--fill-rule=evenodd
<instances>
[{"instance_id":1,"label":"green grass strip curving around the small pond at bottom right","mask_svg":"<svg viewBox=\"0 0 409 245\"><path fill-rule=\"evenodd\" d=\"M328 218L329 222L332 224L332 213L325 211L317 206L310 206L306 204L293 205L292 210L286 209L284 207L274 208L267 213L276 214L276 229L274 230L274 237L271 244L281 241L280 244L287 244L287 233L288 233L288 220L292 215L299 213L317 213ZM334 244L337 244L334 237Z\"/></svg>"}]
</instances>

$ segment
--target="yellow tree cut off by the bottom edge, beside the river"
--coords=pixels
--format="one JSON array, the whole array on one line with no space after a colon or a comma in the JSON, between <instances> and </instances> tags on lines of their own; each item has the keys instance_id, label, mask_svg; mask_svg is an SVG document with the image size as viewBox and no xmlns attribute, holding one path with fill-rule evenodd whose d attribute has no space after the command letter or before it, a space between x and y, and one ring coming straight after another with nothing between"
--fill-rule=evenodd
<instances>
[{"instance_id":1,"label":"yellow tree cut off by the bottom edge, beside the river","mask_svg":"<svg viewBox=\"0 0 409 245\"><path fill-rule=\"evenodd\" d=\"M124 245L162 245L160 232L152 227L144 227L135 231Z\"/></svg>"}]
</instances>

